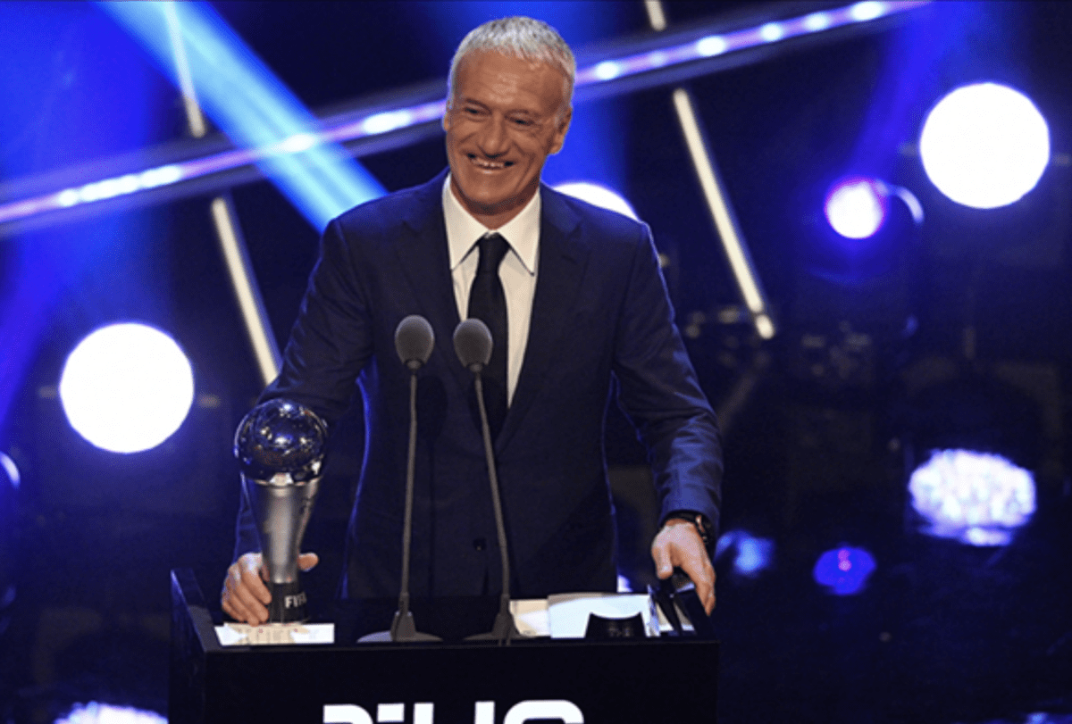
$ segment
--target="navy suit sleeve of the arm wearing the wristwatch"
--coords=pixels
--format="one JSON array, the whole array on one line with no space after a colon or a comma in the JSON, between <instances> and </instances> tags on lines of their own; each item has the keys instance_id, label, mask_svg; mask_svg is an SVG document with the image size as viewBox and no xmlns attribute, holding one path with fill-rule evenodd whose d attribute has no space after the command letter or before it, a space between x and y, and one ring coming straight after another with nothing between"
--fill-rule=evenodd
<instances>
[{"instance_id":1,"label":"navy suit sleeve of the arm wearing the wristwatch","mask_svg":"<svg viewBox=\"0 0 1072 724\"><path fill-rule=\"evenodd\" d=\"M715 413L674 325L646 226L641 236L615 331L619 404L647 448L660 518L696 511L717 530L723 455Z\"/></svg>"}]
</instances>

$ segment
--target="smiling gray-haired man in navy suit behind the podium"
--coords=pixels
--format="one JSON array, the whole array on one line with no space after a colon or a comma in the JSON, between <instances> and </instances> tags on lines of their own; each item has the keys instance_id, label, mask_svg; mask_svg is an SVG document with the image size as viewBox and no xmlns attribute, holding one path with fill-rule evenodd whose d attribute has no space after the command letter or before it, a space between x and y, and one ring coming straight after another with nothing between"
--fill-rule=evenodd
<instances>
[{"instance_id":1,"label":"smiling gray-haired man in navy suit behind the podium","mask_svg":"<svg viewBox=\"0 0 1072 724\"><path fill-rule=\"evenodd\" d=\"M569 127L574 74L569 47L538 20L472 31L451 64L443 119L449 176L352 209L325 231L283 371L264 398L294 399L331 424L355 378L361 387L368 434L346 541L351 598L398 592L410 372L393 333L411 314L428 318L437 341L418 388L411 591L495 594L504 584L472 374L448 342L460 319L477 316L471 287L483 284L475 283L480 258L497 243L505 256L488 263L493 274L497 262L505 293L505 344L494 344L508 409L495 458L513 594L614 590L602 424L616 387L661 499L652 545L658 575L682 568L708 610L714 606L702 536L717 525L718 434L673 326L649 229L540 185L544 162ZM493 357L489 372L495 364ZM494 379L488 387L494 398ZM315 561L307 554L300 564ZM222 598L238 620L267 619L271 599L248 510Z\"/></svg>"}]
</instances>

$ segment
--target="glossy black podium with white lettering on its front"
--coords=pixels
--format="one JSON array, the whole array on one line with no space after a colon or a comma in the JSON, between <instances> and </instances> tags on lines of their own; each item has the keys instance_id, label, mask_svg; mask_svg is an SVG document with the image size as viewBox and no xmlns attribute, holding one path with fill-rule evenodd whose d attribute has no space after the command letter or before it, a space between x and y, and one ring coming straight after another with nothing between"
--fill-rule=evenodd
<instances>
[{"instance_id":1,"label":"glossy black podium with white lettering on its front","mask_svg":"<svg viewBox=\"0 0 1072 724\"><path fill-rule=\"evenodd\" d=\"M714 640L224 647L191 571L172 599L170 724L715 721Z\"/></svg>"}]
</instances>

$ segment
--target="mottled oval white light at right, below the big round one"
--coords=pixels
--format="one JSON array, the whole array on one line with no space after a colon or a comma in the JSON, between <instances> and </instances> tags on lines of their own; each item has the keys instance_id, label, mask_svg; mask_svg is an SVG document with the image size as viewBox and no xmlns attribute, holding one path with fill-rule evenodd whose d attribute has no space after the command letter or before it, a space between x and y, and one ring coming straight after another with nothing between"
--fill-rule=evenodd
<instances>
[{"instance_id":1,"label":"mottled oval white light at right, below the big round one","mask_svg":"<svg viewBox=\"0 0 1072 724\"><path fill-rule=\"evenodd\" d=\"M928 536L970 545L1006 545L1034 513L1034 479L1010 461L970 450L938 450L909 479L912 507Z\"/></svg>"}]
</instances>

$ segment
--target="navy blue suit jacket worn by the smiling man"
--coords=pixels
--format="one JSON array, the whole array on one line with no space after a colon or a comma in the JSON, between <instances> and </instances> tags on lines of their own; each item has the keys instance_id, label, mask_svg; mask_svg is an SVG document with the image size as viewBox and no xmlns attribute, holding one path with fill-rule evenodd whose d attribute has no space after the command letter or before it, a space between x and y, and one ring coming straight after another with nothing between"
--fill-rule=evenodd
<instances>
[{"instance_id":1,"label":"navy blue suit jacket worn by the smiling man","mask_svg":"<svg viewBox=\"0 0 1072 724\"><path fill-rule=\"evenodd\" d=\"M366 457L347 532L351 598L399 588L410 372L394 350L407 315L432 325L419 372L411 590L497 593L501 570L472 374L451 343L459 323L442 207L444 176L359 206L322 242L280 377L329 424L355 379ZM524 598L614 590L615 534L604 419L615 387L647 446L662 513L718 519L721 452L673 323L645 225L541 186L539 269L525 359L495 440L511 558ZM615 384L616 380L616 384ZM248 511L238 553L257 549Z\"/></svg>"}]
</instances>

